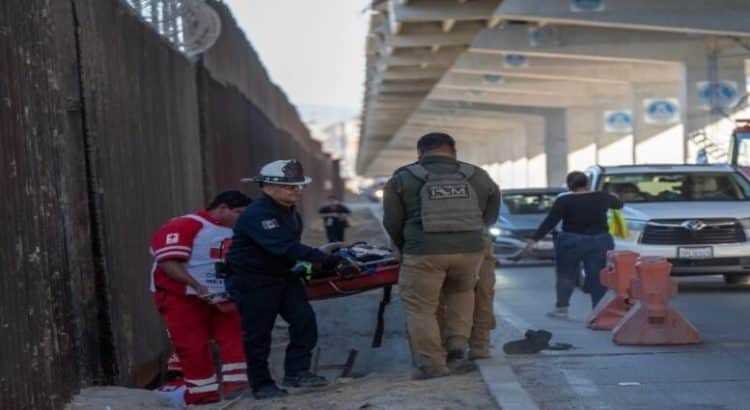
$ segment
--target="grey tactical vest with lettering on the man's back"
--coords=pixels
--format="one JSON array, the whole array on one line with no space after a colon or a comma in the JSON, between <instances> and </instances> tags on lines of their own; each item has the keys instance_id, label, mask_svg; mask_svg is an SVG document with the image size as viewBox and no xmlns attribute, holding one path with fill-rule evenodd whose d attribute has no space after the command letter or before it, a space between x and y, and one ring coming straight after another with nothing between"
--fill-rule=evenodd
<instances>
[{"instance_id":1,"label":"grey tactical vest with lettering on the man's back","mask_svg":"<svg viewBox=\"0 0 750 410\"><path fill-rule=\"evenodd\" d=\"M420 165L406 169L424 182L419 190L420 212L413 220L421 220L424 232L469 232L484 228L479 198L469 179L472 165L459 163L452 174L430 174Z\"/></svg>"}]
</instances>

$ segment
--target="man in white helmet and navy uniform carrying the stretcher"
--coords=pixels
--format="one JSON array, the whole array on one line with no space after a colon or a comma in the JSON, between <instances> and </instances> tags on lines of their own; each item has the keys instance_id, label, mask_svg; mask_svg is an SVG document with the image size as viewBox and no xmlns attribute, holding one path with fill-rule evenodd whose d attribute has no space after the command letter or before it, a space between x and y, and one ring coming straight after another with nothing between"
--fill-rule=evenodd
<instances>
[{"instance_id":1,"label":"man in white helmet and navy uniform carrying the stretcher","mask_svg":"<svg viewBox=\"0 0 750 410\"><path fill-rule=\"evenodd\" d=\"M318 387L328 383L310 372L311 352L318 340L317 322L302 278L291 270L300 260L321 264L324 270L342 270L348 261L330 253L335 246L313 248L300 242L302 218L295 204L301 199L302 187L311 180L304 176L299 162L271 162L251 181L260 183L263 195L234 226L226 256L226 287L242 317L253 395L264 399L287 394L268 370L271 331L278 315L289 323L282 384Z\"/></svg>"}]
</instances>

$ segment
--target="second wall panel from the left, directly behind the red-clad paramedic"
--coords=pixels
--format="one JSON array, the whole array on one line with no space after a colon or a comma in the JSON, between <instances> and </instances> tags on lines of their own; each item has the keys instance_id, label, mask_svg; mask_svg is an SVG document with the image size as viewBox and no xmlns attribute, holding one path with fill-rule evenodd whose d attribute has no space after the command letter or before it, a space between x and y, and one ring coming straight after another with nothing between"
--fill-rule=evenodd
<instances>
[{"instance_id":1,"label":"second wall panel from the left, directly behind the red-clad paramedic","mask_svg":"<svg viewBox=\"0 0 750 410\"><path fill-rule=\"evenodd\" d=\"M122 3L76 5L115 382L143 384L165 350L149 238L203 205L195 67Z\"/></svg>"}]
</instances>

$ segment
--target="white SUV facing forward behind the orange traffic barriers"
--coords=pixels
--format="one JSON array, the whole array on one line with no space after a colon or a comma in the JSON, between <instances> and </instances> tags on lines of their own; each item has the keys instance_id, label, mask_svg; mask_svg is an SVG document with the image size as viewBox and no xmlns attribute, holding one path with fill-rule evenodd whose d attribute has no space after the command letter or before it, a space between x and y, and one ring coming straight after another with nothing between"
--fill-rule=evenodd
<instances>
[{"instance_id":1,"label":"white SUV facing forward behind the orange traffic barriers","mask_svg":"<svg viewBox=\"0 0 750 410\"><path fill-rule=\"evenodd\" d=\"M750 182L730 165L595 166L595 190L625 201L630 236L617 250L661 256L674 275L750 281Z\"/></svg>"}]
</instances>

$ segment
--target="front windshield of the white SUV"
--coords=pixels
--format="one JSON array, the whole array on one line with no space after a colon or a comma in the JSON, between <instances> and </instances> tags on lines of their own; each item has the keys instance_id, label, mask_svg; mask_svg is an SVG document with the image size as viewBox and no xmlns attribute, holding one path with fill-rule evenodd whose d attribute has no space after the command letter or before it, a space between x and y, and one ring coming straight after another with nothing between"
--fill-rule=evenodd
<instances>
[{"instance_id":1,"label":"front windshield of the white SUV","mask_svg":"<svg viewBox=\"0 0 750 410\"><path fill-rule=\"evenodd\" d=\"M750 183L729 172L605 175L600 189L629 203L750 200Z\"/></svg>"}]
</instances>

